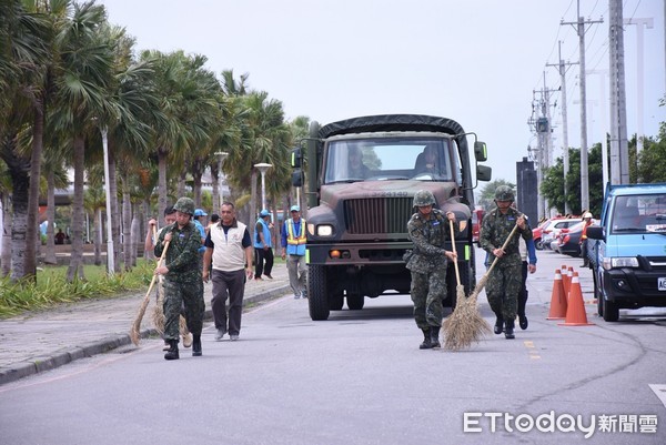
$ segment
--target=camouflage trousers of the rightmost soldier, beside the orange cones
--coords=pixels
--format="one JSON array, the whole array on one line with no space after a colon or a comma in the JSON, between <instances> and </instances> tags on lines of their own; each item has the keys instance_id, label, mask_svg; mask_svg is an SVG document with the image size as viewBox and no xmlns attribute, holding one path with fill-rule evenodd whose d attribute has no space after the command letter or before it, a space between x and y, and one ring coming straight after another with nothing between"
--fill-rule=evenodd
<instances>
[{"instance_id":1,"label":"camouflage trousers of the rightmost soldier, beside the orange cones","mask_svg":"<svg viewBox=\"0 0 666 445\"><path fill-rule=\"evenodd\" d=\"M518 306L518 293L523 286L521 263L495 265L488 275L486 295L491 309L504 320L514 320Z\"/></svg>"}]
</instances>

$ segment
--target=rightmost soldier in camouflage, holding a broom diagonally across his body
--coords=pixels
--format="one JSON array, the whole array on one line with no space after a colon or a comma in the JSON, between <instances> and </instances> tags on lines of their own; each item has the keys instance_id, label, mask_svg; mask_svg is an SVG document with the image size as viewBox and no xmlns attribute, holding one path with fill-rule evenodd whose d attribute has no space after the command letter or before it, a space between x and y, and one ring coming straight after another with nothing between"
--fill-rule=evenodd
<instances>
[{"instance_id":1,"label":"rightmost soldier in camouflage, holding a broom diagonally across his body","mask_svg":"<svg viewBox=\"0 0 666 445\"><path fill-rule=\"evenodd\" d=\"M496 209L490 211L483 219L478 245L488 252L488 262L498 259L497 264L488 275L486 295L491 309L497 316L495 334L504 331L506 338L514 338L514 326L518 304L518 292L522 287L522 260L518 251L518 236L514 235L506 250L502 245L515 225L518 226L519 236L524 240L532 239L532 229L523 215L511 205L514 202L514 192L507 185L500 185L495 191Z\"/></svg>"}]
</instances>

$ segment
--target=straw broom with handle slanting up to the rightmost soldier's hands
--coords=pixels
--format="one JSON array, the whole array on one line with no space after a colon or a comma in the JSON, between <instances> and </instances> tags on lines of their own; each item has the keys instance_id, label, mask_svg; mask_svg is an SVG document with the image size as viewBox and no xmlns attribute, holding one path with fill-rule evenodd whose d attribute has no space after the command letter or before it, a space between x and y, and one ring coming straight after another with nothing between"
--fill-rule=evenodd
<instances>
[{"instance_id":1,"label":"straw broom with handle slanting up to the rightmost soldier's hands","mask_svg":"<svg viewBox=\"0 0 666 445\"><path fill-rule=\"evenodd\" d=\"M517 224L513 227L504 244L502 245L502 250L505 250L508 245L508 242L514 236L517 230ZM442 324L444 330L444 347L452 351L460 351L463 348L467 348L472 345L472 343L478 343L481 338L485 334L490 334L491 326L481 316L478 312L478 294L485 287L488 275L495 267L498 257L495 257L491 267L486 271L486 273L481 277L476 287L468 297L464 296L461 300L460 294L457 299L457 304L453 314L448 316ZM457 272L457 269L456 269ZM460 282L460 280L458 280ZM458 284L460 285L460 284Z\"/></svg>"}]
</instances>

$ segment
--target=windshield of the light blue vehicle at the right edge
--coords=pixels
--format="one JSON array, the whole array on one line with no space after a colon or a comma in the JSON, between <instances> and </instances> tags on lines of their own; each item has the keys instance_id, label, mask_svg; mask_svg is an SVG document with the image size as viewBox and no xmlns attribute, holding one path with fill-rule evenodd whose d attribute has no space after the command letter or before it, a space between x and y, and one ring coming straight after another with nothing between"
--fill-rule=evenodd
<instances>
[{"instance_id":1,"label":"windshield of the light blue vehicle at the right edge","mask_svg":"<svg viewBox=\"0 0 666 445\"><path fill-rule=\"evenodd\" d=\"M666 233L666 195L617 196L610 230L613 233Z\"/></svg>"}]
</instances>

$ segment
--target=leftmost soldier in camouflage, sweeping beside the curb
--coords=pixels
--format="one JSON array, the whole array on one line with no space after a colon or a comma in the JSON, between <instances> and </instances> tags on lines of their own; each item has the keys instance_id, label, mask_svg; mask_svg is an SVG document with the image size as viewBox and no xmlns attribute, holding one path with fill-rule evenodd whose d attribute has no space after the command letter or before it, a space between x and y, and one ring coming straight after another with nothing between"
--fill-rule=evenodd
<instances>
[{"instance_id":1,"label":"leftmost soldier in camouflage, sweeping beside the curb","mask_svg":"<svg viewBox=\"0 0 666 445\"><path fill-rule=\"evenodd\" d=\"M164 264L155 269L155 274L164 276L164 340L171 346L164 354L165 360L179 358L179 317L183 303L188 327L194 336L192 355L201 355L201 330L205 310L199 263L201 235L192 222L194 201L181 198L173 209L175 223L164 227L155 243L155 256L161 256L164 244L170 241Z\"/></svg>"}]
</instances>

